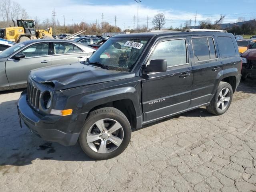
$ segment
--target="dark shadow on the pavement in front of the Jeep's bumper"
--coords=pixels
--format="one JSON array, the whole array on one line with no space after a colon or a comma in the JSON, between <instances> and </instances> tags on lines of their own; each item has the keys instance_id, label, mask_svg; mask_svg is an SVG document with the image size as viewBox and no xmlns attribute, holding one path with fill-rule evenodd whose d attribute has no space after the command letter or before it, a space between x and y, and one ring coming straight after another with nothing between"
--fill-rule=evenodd
<instances>
[{"instance_id":1,"label":"dark shadow on the pavement in front of the Jeep's bumper","mask_svg":"<svg viewBox=\"0 0 256 192\"><path fill-rule=\"evenodd\" d=\"M36 159L94 161L84 154L78 143L62 146L32 134L23 122L20 128L17 102L12 100L0 104L0 172L5 171L6 166L25 166Z\"/></svg>"}]
</instances>

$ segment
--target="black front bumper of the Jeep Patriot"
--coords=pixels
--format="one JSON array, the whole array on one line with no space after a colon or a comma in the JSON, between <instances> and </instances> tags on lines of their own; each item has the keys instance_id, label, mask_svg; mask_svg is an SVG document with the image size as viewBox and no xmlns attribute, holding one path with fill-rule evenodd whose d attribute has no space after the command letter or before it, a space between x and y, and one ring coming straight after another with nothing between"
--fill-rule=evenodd
<instances>
[{"instance_id":1,"label":"black front bumper of the Jeep Patriot","mask_svg":"<svg viewBox=\"0 0 256 192\"><path fill-rule=\"evenodd\" d=\"M64 146L76 144L87 115L42 116L28 105L26 90L22 92L17 108L20 118L32 133L44 140L58 142Z\"/></svg>"}]
</instances>

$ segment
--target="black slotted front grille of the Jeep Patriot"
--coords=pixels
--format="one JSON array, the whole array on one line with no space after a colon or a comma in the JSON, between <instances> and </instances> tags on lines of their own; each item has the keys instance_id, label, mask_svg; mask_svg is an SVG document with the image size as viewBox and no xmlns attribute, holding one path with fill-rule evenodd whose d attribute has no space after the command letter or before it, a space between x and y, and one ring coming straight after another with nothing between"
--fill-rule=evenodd
<instances>
[{"instance_id":1,"label":"black slotted front grille of the Jeep Patriot","mask_svg":"<svg viewBox=\"0 0 256 192\"><path fill-rule=\"evenodd\" d=\"M39 98L40 98L40 90L35 88L32 84L28 83L27 88L27 99L30 106L39 110Z\"/></svg>"}]
</instances>

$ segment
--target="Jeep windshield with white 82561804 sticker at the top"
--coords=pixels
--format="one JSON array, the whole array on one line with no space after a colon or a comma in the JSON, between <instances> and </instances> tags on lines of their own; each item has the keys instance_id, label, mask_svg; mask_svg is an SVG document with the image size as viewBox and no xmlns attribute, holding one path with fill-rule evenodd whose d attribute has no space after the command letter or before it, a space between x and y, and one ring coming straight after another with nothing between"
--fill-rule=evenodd
<instances>
[{"instance_id":1,"label":"Jeep windshield with white 82561804 sticker at the top","mask_svg":"<svg viewBox=\"0 0 256 192\"><path fill-rule=\"evenodd\" d=\"M149 38L118 38L108 39L90 57L90 63L100 63L110 70L130 72L146 47Z\"/></svg>"}]
</instances>

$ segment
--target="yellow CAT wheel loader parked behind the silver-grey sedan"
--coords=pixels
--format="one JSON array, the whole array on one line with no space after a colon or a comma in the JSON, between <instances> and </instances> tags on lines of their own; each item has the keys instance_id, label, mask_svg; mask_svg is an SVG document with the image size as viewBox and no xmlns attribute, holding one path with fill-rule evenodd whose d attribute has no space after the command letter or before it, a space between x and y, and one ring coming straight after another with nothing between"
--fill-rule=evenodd
<instances>
[{"instance_id":1,"label":"yellow CAT wheel loader parked behind the silver-grey sedan","mask_svg":"<svg viewBox=\"0 0 256 192\"><path fill-rule=\"evenodd\" d=\"M35 30L35 21L28 19L16 20L17 26L13 20L14 26L0 29L0 38L16 43L24 42L30 39L52 38L52 28L46 30Z\"/></svg>"}]
</instances>

